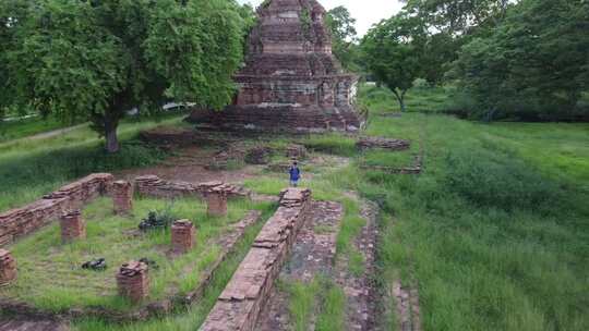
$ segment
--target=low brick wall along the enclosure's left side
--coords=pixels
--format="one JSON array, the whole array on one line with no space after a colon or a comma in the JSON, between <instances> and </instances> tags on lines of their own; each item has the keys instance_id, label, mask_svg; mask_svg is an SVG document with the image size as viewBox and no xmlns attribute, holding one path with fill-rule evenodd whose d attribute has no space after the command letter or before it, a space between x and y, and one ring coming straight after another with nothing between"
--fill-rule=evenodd
<instances>
[{"instance_id":1,"label":"low brick wall along the enclosure's left side","mask_svg":"<svg viewBox=\"0 0 589 331\"><path fill-rule=\"evenodd\" d=\"M40 200L0 213L0 246L59 219L68 209L79 209L107 194L112 181L113 176L109 173L91 174L46 195Z\"/></svg>"}]
</instances>

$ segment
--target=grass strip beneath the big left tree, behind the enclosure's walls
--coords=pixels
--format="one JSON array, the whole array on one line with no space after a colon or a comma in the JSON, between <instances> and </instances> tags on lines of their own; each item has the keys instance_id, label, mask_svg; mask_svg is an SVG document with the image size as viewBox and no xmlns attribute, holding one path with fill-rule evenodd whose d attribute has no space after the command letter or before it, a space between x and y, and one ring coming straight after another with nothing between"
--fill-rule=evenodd
<instances>
[{"instance_id":1,"label":"grass strip beneath the big left tree, behind the enclosure's walls","mask_svg":"<svg viewBox=\"0 0 589 331\"><path fill-rule=\"evenodd\" d=\"M34 201L72 180L92 172L144 167L165 154L135 139L142 130L182 125L182 117L128 121L120 125L121 151L107 155L104 139L83 126L45 138L20 138L0 144L0 210Z\"/></svg>"}]
</instances>

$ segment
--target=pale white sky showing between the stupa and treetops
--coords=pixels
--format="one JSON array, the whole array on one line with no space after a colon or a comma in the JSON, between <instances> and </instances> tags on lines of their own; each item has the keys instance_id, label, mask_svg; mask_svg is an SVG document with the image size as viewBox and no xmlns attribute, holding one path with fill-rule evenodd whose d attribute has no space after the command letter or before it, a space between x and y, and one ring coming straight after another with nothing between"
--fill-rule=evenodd
<instances>
[{"instance_id":1,"label":"pale white sky showing between the stupa and treetops","mask_svg":"<svg viewBox=\"0 0 589 331\"><path fill-rule=\"evenodd\" d=\"M251 3L252 5L259 5L262 0L238 0L241 3ZM326 10L330 10L334 7L346 7L352 17L357 20L356 28L358 35L363 36L369 28L374 24L381 22L383 19L388 19L396 14L402 7L398 0L318 0Z\"/></svg>"}]
</instances>

